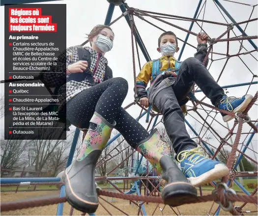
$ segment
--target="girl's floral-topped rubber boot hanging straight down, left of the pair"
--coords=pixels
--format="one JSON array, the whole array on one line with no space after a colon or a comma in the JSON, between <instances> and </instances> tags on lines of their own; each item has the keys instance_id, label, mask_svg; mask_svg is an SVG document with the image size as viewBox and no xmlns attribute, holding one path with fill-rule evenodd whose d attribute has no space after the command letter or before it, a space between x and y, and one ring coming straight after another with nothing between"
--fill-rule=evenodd
<instances>
[{"instance_id":1,"label":"girl's floral-topped rubber boot hanging straight down, left of the pair","mask_svg":"<svg viewBox=\"0 0 258 216\"><path fill-rule=\"evenodd\" d=\"M94 213L98 208L95 168L114 127L115 123L110 124L94 113L79 156L64 172L67 201L84 213Z\"/></svg>"}]
</instances>

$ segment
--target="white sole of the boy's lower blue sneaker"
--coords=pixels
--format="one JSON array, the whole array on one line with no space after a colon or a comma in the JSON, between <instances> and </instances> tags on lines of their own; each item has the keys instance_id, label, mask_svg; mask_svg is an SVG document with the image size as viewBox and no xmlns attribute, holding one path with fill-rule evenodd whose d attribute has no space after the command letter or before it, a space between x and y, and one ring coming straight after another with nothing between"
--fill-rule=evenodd
<instances>
[{"instance_id":1,"label":"white sole of the boy's lower blue sneaker","mask_svg":"<svg viewBox=\"0 0 258 216\"><path fill-rule=\"evenodd\" d=\"M203 185L229 175L229 168L224 164L216 164L212 170L198 177L187 178L192 185Z\"/></svg>"}]
</instances>

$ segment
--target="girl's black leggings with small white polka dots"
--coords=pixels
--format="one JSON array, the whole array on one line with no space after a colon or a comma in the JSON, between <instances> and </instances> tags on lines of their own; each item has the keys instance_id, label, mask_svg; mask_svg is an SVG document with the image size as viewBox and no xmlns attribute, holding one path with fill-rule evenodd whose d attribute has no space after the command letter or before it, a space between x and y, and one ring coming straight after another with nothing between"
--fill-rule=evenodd
<instances>
[{"instance_id":1,"label":"girl's black leggings with small white polka dots","mask_svg":"<svg viewBox=\"0 0 258 216\"><path fill-rule=\"evenodd\" d=\"M97 112L109 123L115 121L115 129L135 148L149 133L121 107L127 92L128 83L123 78L92 86L67 102L66 118L77 127L88 128L91 117Z\"/></svg>"}]
</instances>

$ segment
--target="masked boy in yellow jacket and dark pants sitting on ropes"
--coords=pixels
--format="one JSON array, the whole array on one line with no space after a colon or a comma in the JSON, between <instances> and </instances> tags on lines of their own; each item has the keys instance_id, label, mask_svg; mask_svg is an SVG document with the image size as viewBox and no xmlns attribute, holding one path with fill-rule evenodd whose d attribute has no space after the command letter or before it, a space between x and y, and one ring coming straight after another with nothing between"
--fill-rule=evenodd
<instances>
[{"instance_id":1,"label":"masked boy in yellow jacket and dark pants sitting on ropes","mask_svg":"<svg viewBox=\"0 0 258 216\"><path fill-rule=\"evenodd\" d=\"M174 53L179 51L176 35L172 31L162 33L157 48L162 57L158 63L157 60L147 62L136 79L140 104L148 107L150 103L163 115L176 159L192 185L202 185L229 173L225 164L204 157L198 151L200 147L197 148L197 144L187 133L180 106L187 102L186 96L191 92L194 82L214 106L230 112L243 112L253 98L252 95L228 97L224 93L206 68L208 59L205 65L202 64L207 54L208 35L199 33L197 41L195 56L178 62L173 57ZM151 84L147 93L149 81ZM230 115L222 116L224 122L233 119Z\"/></svg>"}]
</instances>

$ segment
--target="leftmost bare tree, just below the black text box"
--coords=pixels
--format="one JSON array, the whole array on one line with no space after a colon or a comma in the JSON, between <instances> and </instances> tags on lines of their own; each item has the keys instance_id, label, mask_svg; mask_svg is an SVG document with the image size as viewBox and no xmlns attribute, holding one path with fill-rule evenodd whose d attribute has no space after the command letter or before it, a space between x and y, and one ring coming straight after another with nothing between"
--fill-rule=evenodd
<instances>
[{"instance_id":1,"label":"leftmost bare tree, just below the black text box","mask_svg":"<svg viewBox=\"0 0 258 216\"><path fill-rule=\"evenodd\" d=\"M26 149L30 145L29 140L9 140L1 139L1 167L3 169L12 169L14 165L23 165L26 163Z\"/></svg>"}]
</instances>

